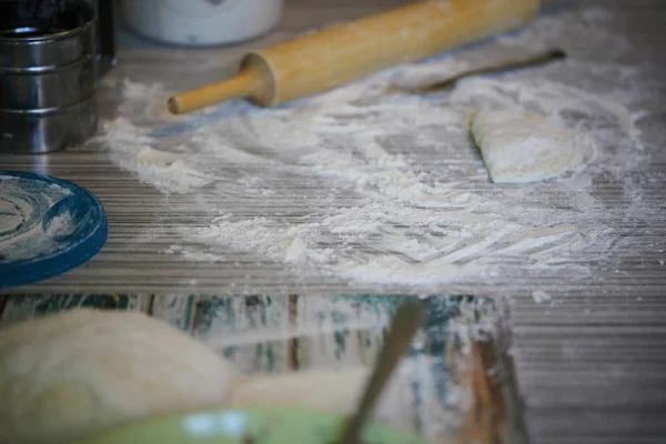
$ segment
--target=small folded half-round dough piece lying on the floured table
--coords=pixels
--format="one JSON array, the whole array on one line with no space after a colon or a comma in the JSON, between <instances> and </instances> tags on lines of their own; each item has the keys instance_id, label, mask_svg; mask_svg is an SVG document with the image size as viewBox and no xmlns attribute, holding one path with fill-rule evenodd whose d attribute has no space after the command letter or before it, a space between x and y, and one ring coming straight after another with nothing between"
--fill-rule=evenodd
<instances>
[{"instance_id":1,"label":"small folded half-round dough piece lying on the floured table","mask_svg":"<svg viewBox=\"0 0 666 444\"><path fill-rule=\"evenodd\" d=\"M480 112L472 135L495 183L558 176L579 165L589 148L573 131L539 114L515 110Z\"/></svg>"}]
</instances>

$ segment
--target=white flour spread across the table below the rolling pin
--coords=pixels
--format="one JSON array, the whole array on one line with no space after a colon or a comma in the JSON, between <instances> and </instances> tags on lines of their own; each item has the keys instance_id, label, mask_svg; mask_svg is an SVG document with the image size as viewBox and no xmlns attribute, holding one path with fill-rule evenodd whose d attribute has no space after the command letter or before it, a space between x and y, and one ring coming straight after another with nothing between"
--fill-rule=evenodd
<instances>
[{"instance_id":1,"label":"white flour spread across the table below the rolling pin","mask_svg":"<svg viewBox=\"0 0 666 444\"><path fill-rule=\"evenodd\" d=\"M185 260L215 262L242 251L301 274L425 289L507 268L583 278L588 270L571 258L604 251L613 239L606 222L615 213L588 193L594 174L620 178L643 159L639 115L627 109L639 100L635 70L565 61L468 79L450 94L386 93L392 83L524 56L564 34L596 39L585 23L605 20L603 11L573 14L542 19L500 46L402 67L276 110L233 102L167 117L170 91L125 81L121 115L139 119L107 122L103 141L141 181L190 196L171 202L171 211L210 214L206 226L181 226L182 244L165 251ZM605 97L572 85L608 72L627 85L618 81ZM468 138L468 118L481 109L538 113L578 132L596 159L558 180L493 185Z\"/></svg>"}]
</instances>

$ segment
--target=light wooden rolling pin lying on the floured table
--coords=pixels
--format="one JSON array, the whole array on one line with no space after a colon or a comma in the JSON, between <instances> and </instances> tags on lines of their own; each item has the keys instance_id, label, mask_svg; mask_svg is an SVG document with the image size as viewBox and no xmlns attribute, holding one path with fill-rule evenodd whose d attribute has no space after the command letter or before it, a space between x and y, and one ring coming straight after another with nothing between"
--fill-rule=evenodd
<instances>
[{"instance_id":1,"label":"light wooden rolling pin lying on the floured table","mask_svg":"<svg viewBox=\"0 0 666 444\"><path fill-rule=\"evenodd\" d=\"M230 79L169 99L174 114L229 99L274 107L527 24L539 0L427 0L249 53Z\"/></svg>"}]
</instances>

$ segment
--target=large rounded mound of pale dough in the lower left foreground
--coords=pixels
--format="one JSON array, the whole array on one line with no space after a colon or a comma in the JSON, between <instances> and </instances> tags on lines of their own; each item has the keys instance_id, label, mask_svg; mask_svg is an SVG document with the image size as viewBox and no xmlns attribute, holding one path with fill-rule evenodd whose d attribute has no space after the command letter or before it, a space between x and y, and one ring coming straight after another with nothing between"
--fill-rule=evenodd
<instances>
[{"instance_id":1,"label":"large rounded mound of pale dough in the lower left foreground","mask_svg":"<svg viewBox=\"0 0 666 444\"><path fill-rule=\"evenodd\" d=\"M0 442L69 444L153 415L224 405L231 364L142 313L75 310L0 330Z\"/></svg>"}]
</instances>

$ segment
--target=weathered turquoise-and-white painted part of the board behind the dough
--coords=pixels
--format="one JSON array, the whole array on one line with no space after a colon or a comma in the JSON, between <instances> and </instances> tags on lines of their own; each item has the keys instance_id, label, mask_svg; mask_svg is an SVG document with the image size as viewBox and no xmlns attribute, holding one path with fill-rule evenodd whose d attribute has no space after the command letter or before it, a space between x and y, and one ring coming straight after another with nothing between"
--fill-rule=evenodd
<instances>
[{"instance_id":1,"label":"weathered turquoise-and-white painted part of the board behind the dough","mask_svg":"<svg viewBox=\"0 0 666 444\"><path fill-rule=\"evenodd\" d=\"M392 314L406 297L10 296L0 325L82 306L144 310L205 343L244 374L283 375L372 365ZM491 300L432 297L423 327L394 376L400 387L395 411L384 420L434 442L454 441L465 416L455 396L450 362L452 345L456 345L452 341L464 332L455 325L481 326L493 319L497 313ZM458 329L456 334L454 329Z\"/></svg>"}]
</instances>

